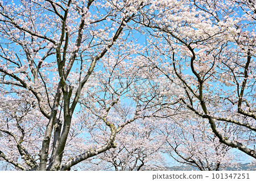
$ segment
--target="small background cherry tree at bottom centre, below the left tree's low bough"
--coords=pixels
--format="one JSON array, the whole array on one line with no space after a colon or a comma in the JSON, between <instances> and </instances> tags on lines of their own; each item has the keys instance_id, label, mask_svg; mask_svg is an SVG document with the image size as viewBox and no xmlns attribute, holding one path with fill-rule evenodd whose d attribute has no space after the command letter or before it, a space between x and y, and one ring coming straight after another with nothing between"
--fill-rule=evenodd
<instances>
[{"instance_id":1,"label":"small background cherry tree at bottom centre, below the left tree's low bough","mask_svg":"<svg viewBox=\"0 0 256 181\"><path fill-rule=\"evenodd\" d=\"M120 122L122 116L130 117L131 106L115 107L112 117ZM122 115L120 117L120 115ZM90 170L164 170L167 165L162 150L163 137L157 134L159 127L155 119L140 118L127 125L115 138L117 148L105 151L90 161Z\"/></svg>"}]
</instances>

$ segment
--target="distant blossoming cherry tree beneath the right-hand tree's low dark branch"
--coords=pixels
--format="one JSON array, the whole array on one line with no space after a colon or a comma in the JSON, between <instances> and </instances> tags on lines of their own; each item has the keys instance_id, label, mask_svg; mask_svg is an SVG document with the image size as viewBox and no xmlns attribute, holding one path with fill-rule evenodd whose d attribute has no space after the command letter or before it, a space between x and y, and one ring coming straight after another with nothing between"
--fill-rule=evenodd
<instances>
[{"instance_id":1,"label":"distant blossoming cherry tree beneath the right-hand tree's low dark branch","mask_svg":"<svg viewBox=\"0 0 256 181\"><path fill-rule=\"evenodd\" d=\"M237 169L240 157L232 153L232 148L218 141L205 121L199 118L167 120L163 127L161 132L166 137L164 149L175 161L199 170L225 170L227 167ZM221 125L221 128L227 138L243 134L227 124Z\"/></svg>"}]
</instances>

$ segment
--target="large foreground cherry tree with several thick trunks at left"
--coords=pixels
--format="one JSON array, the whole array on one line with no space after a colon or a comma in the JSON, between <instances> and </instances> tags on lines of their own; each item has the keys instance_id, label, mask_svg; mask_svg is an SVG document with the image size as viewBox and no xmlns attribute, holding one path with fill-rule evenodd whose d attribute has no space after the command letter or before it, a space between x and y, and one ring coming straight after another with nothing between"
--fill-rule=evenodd
<instances>
[{"instance_id":1,"label":"large foreground cherry tree with several thick trunks at left","mask_svg":"<svg viewBox=\"0 0 256 181\"><path fill-rule=\"evenodd\" d=\"M0 1L2 160L20 170L68 170L116 147L115 135L137 119L137 110L120 125L108 117L135 82L131 7L141 3ZM97 116L108 134L66 159L80 111Z\"/></svg>"}]
</instances>

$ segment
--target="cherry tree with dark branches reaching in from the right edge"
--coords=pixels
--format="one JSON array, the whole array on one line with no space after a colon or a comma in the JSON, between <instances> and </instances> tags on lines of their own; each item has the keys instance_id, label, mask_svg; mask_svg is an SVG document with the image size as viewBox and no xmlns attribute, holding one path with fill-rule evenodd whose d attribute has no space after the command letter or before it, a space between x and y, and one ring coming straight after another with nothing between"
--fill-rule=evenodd
<instances>
[{"instance_id":1,"label":"cherry tree with dark branches reaching in from the right edge","mask_svg":"<svg viewBox=\"0 0 256 181\"><path fill-rule=\"evenodd\" d=\"M142 56L180 87L179 95L165 92L170 100L179 99L208 120L220 142L253 158L255 12L255 1L152 1L139 11L143 23L137 21L149 32ZM226 124L243 137L226 137Z\"/></svg>"}]
</instances>

